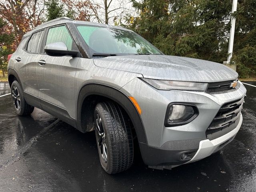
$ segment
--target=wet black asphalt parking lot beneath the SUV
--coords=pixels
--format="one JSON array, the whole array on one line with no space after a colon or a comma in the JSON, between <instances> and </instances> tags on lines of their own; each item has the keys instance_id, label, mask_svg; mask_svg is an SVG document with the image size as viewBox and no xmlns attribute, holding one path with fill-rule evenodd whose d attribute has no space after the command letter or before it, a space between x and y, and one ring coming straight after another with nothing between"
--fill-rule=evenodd
<instances>
[{"instance_id":1,"label":"wet black asphalt parking lot beneath the SUV","mask_svg":"<svg viewBox=\"0 0 256 192\"><path fill-rule=\"evenodd\" d=\"M245 86L244 122L220 152L163 171L147 168L137 153L132 168L116 175L101 168L94 132L83 134L37 108L31 116L19 117L10 95L2 96L0 191L255 192L256 87ZM0 83L0 95L8 93L8 83Z\"/></svg>"}]
</instances>

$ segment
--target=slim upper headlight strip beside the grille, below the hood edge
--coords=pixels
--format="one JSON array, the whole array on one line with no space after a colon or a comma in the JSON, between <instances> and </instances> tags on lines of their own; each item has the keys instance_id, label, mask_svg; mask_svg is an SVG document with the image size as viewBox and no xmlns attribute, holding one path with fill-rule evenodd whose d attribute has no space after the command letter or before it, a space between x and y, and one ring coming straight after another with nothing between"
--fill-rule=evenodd
<instances>
[{"instance_id":1,"label":"slim upper headlight strip beside the grille, below the hood edge","mask_svg":"<svg viewBox=\"0 0 256 192\"><path fill-rule=\"evenodd\" d=\"M206 91L208 83L189 82L189 81L168 81L142 78L146 83L159 90L189 90Z\"/></svg>"}]
</instances>

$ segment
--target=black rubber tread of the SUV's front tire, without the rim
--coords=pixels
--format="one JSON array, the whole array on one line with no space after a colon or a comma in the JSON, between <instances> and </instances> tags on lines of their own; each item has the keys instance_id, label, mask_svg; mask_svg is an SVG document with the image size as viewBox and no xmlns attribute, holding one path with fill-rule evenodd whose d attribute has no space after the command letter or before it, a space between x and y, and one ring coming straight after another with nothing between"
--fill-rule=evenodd
<instances>
[{"instance_id":1,"label":"black rubber tread of the SUV's front tire, without the rim","mask_svg":"<svg viewBox=\"0 0 256 192\"><path fill-rule=\"evenodd\" d=\"M111 164L106 171L109 174L123 172L130 168L133 162L133 139L128 116L114 102L102 102L97 106L102 110L110 138Z\"/></svg>"}]
</instances>

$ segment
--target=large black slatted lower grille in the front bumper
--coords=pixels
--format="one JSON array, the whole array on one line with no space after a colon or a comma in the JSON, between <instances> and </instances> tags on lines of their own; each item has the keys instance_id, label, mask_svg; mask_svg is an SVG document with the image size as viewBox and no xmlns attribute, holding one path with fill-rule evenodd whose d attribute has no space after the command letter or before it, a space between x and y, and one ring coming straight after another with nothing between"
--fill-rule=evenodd
<instances>
[{"instance_id":1,"label":"large black slatted lower grille in the front bumper","mask_svg":"<svg viewBox=\"0 0 256 192\"><path fill-rule=\"evenodd\" d=\"M209 140L216 139L236 128L243 103L244 98L224 104L206 130L206 137Z\"/></svg>"}]
</instances>

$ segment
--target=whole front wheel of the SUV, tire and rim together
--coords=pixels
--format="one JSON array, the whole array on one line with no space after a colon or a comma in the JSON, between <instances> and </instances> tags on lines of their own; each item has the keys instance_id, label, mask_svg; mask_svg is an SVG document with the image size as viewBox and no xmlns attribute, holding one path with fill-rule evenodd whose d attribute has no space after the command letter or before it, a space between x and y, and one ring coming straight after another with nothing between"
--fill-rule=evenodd
<instances>
[{"instance_id":1,"label":"whole front wheel of the SUV, tire and rim together","mask_svg":"<svg viewBox=\"0 0 256 192\"><path fill-rule=\"evenodd\" d=\"M133 138L126 113L114 102L101 102L95 107L94 122L102 168L108 174L130 168L133 162Z\"/></svg>"}]
</instances>

